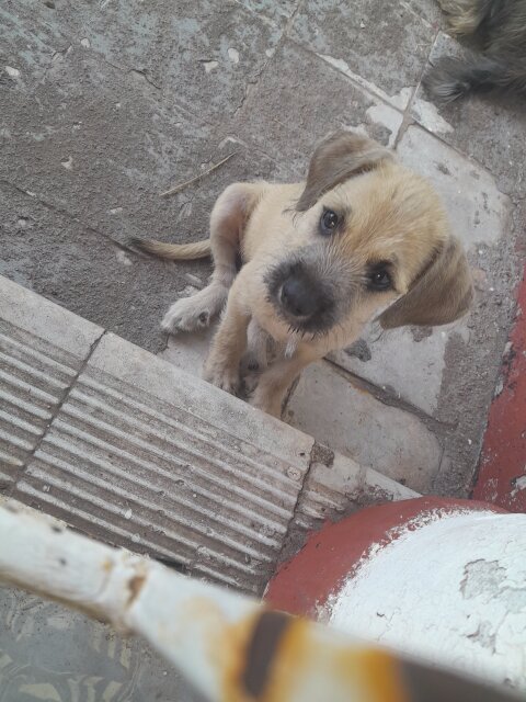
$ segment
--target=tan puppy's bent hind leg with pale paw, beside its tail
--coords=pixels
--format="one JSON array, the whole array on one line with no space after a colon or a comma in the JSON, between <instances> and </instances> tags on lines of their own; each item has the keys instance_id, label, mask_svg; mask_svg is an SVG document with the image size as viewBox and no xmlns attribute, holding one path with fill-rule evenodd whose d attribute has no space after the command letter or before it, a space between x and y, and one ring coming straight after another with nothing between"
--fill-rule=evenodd
<instances>
[{"instance_id":1,"label":"tan puppy's bent hind leg with pale paw, beside its tail","mask_svg":"<svg viewBox=\"0 0 526 702\"><path fill-rule=\"evenodd\" d=\"M233 183L218 197L210 215L211 281L204 290L178 299L170 307L161 322L164 331L203 329L221 312L236 278L237 252L259 191L259 185Z\"/></svg>"}]
</instances>

